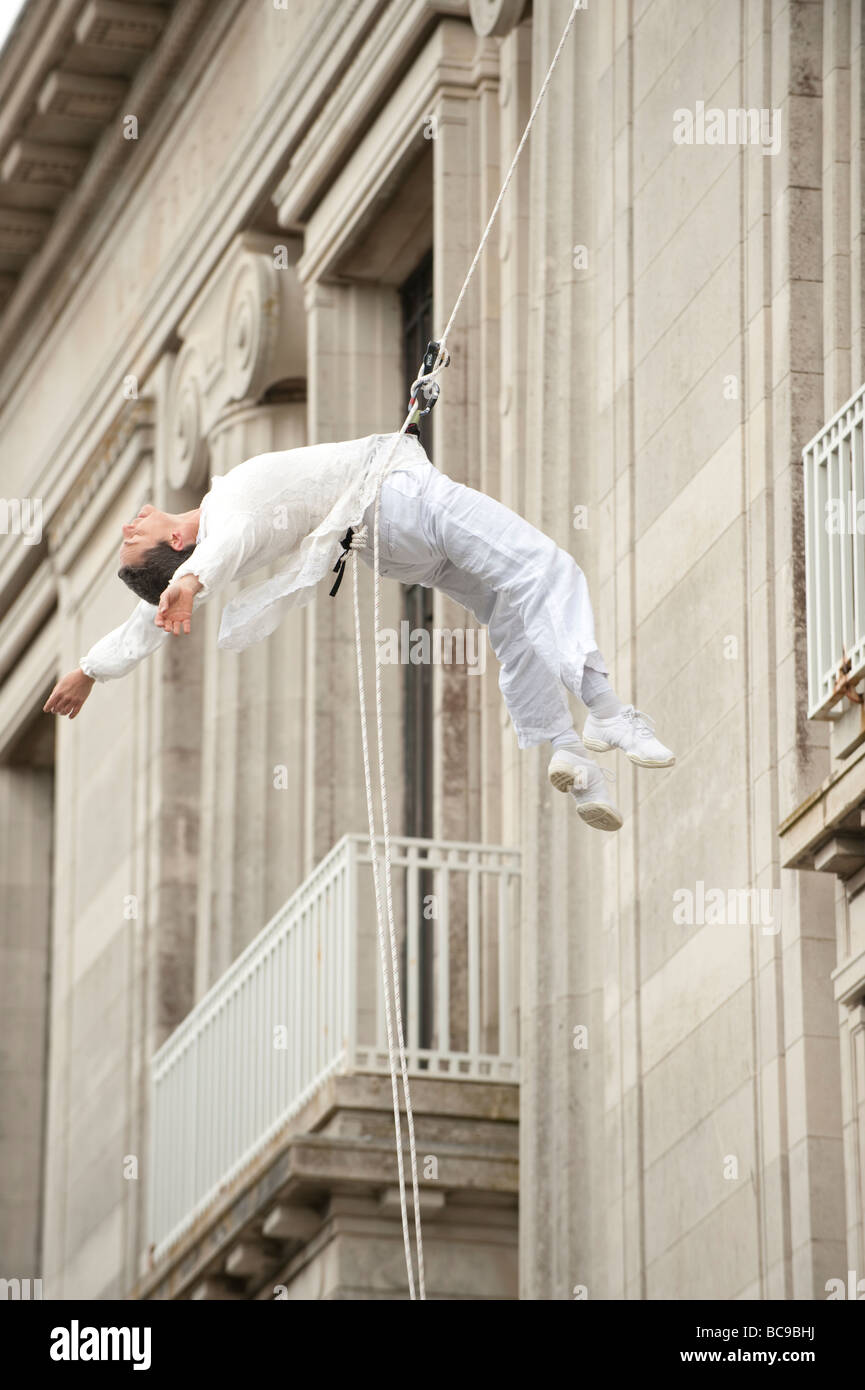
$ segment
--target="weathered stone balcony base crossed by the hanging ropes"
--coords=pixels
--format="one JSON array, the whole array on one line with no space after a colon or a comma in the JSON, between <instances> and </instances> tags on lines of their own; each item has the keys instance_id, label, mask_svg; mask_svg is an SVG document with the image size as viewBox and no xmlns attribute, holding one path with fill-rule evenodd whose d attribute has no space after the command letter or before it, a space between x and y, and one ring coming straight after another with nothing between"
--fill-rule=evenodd
<instances>
[{"instance_id":1,"label":"weathered stone balcony base crossed by the hanging ropes","mask_svg":"<svg viewBox=\"0 0 865 1390\"><path fill-rule=\"evenodd\" d=\"M428 1298L517 1297L519 1088L412 1081ZM412 1232L407 1131L403 1148ZM391 1081L332 1076L132 1298L407 1298Z\"/></svg>"}]
</instances>

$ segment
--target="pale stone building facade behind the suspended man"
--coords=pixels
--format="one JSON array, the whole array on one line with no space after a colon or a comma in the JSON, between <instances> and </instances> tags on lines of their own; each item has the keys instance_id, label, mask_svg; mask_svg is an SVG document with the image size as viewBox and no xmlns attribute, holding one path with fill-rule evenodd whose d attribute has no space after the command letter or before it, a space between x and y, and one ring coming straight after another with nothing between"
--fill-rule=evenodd
<instances>
[{"instance_id":1,"label":"pale stone building facade behind the suspended man","mask_svg":"<svg viewBox=\"0 0 865 1390\"><path fill-rule=\"evenodd\" d=\"M406 1297L374 1048L213 1172L153 1061L363 837L350 591L241 656L210 605L40 709L129 612L142 502L399 427L570 8L28 0L0 54L0 1275L45 1297ZM865 379L862 32L862 0L588 0L455 325L434 461L574 555L677 763L620 759L599 835L492 660L385 671L392 823L439 856L407 881L464 853L470 884L428 959L402 922L428 1297L865 1275L864 764L858 708L808 717L801 460ZM388 624L419 603L464 621L385 585ZM260 1047L207 1073L214 1126Z\"/></svg>"}]
</instances>

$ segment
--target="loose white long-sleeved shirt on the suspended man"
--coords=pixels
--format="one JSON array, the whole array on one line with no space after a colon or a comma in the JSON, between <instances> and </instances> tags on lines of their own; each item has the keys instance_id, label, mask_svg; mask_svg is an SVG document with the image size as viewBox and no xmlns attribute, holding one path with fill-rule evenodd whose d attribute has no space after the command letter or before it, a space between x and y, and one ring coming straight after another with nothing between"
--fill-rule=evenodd
<instances>
[{"instance_id":1,"label":"loose white long-sleeved shirt on the suspended man","mask_svg":"<svg viewBox=\"0 0 865 1390\"><path fill-rule=\"evenodd\" d=\"M202 502L195 550L174 571L175 580L185 574L199 580L196 606L232 580L285 560L275 575L243 589L225 606L221 648L241 652L260 642L289 607L312 600L316 584L339 555L346 530L360 525L374 499L394 438L394 434L367 435L260 453L225 477L213 478ZM389 467L427 463L416 435L403 435ZM81 657L85 676L117 680L154 652L170 635L156 627L154 617L156 606L142 599L127 623Z\"/></svg>"}]
</instances>

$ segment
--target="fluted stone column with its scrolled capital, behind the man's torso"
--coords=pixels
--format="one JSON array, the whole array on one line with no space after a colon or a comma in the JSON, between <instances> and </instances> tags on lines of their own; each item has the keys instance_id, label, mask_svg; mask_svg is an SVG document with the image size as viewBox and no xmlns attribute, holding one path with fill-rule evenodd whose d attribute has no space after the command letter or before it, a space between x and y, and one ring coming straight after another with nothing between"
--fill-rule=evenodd
<instances>
[{"instance_id":1,"label":"fluted stone column with its scrolled capital, behind the man's torso","mask_svg":"<svg viewBox=\"0 0 865 1390\"><path fill-rule=\"evenodd\" d=\"M293 238L274 245L239 235L178 325L182 346L165 367L157 467L175 510L199 505L213 474L306 443L296 253ZM186 687L178 708L195 712L196 738L184 769L196 799L196 998L298 887L306 858L298 812L305 617L293 614L246 652L220 652L228 596L200 607L191 649L181 652Z\"/></svg>"}]
</instances>

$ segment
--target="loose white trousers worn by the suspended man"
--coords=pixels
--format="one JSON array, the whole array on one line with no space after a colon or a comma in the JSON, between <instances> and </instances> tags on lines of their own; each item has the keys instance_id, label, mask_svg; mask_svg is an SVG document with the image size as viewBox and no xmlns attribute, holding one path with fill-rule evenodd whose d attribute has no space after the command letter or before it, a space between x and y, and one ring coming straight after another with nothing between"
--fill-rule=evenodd
<instances>
[{"instance_id":1,"label":"loose white trousers worn by the suspended man","mask_svg":"<svg viewBox=\"0 0 865 1390\"><path fill-rule=\"evenodd\" d=\"M373 509L364 514L373 564ZM583 669L608 674L583 570L509 507L431 463L395 468L381 486L380 573L441 589L490 632L499 688L520 748L573 724L565 688Z\"/></svg>"}]
</instances>

